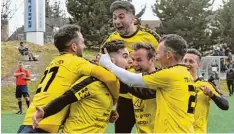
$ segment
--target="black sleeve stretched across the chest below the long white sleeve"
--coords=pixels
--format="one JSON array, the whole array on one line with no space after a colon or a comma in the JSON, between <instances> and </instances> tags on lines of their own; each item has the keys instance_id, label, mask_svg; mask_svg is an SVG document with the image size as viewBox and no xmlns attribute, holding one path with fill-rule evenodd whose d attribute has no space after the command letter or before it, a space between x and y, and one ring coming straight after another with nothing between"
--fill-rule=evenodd
<instances>
[{"instance_id":1,"label":"black sleeve stretched across the chest below the long white sleeve","mask_svg":"<svg viewBox=\"0 0 234 134\"><path fill-rule=\"evenodd\" d=\"M120 93L131 93L132 95L142 99L153 99L156 97L156 91L148 88L133 88L120 82Z\"/></svg>"}]
</instances>

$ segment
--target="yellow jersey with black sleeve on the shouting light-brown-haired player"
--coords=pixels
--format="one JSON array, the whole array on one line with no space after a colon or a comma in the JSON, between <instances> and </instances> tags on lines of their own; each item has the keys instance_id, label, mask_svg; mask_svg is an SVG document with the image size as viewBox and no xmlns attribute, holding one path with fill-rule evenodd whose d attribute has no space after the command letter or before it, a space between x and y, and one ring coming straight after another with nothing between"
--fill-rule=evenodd
<instances>
[{"instance_id":1,"label":"yellow jersey with black sleeve on the shouting light-brown-haired player","mask_svg":"<svg viewBox=\"0 0 234 134\"><path fill-rule=\"evenodd\" d=\"M120 82L120 93L132 94L137 133L153 133L156 113L156 91L148 88L129 87Z\"/></svg>"}]
</instances>

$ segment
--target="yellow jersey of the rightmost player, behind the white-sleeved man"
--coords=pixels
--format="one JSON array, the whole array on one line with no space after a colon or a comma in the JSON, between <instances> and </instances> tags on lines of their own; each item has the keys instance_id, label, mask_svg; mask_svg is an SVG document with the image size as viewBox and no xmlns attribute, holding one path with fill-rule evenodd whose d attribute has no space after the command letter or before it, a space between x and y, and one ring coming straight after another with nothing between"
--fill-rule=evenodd
<instances>
[{"instance_id":1,"label":"yellow jersey of the rightmost player, behind the white-sleeved man","mask_svg":"<svg viewBox=\"0 0 234 134\"><path fill-rule=\"evenodd\" d=\"M199 87L207 86L212 90L214 95L219 97L220 95L215 90L215 87L207 81L198 79L195 81L195 85L197 90L197 105L194 113L194 119L195 119L194 131L195 133L207 133L207 122L208 122L211 98L209 96L206 96Z\"/></svg>"}]
</instances>

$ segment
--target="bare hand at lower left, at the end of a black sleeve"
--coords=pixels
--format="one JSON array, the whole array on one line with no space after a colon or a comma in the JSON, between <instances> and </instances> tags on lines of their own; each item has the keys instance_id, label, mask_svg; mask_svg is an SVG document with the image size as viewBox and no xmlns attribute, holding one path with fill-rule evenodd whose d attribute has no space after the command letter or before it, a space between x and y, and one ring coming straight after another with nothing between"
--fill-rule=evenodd
<instances>
[{"instance_id":1,"label":"bare hand at lower left, at the end of a black sleeve","mask_svg":"<svg viewBox=\"0 0 234 134\"><path fill-rule=\"evenodd\" d=\"M44 117L44 110L40 107L36 107L36 113L33 115L32 120L33 120L33 129L37 128L39 125L39 122L42 120Z\"/></svg>"}]
</instances>

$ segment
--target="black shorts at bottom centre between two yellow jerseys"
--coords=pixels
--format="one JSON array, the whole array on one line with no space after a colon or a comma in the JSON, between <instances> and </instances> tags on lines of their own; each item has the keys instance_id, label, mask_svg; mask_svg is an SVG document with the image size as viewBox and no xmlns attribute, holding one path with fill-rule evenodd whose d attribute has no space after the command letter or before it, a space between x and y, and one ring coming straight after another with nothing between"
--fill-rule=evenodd
<instances>
[{"instance_id":1,"label":"black shorts at bottom centre between two yellow jerseys","mask_svg":"<svg viewBox=\"0 0 234 134\"><path fill-rule=\"evenodd\" d=\"M136 123L132 99L119 97L117 112L119 118L115 122L115 133L131 133Z\"/></svg>"}]
</instances>

